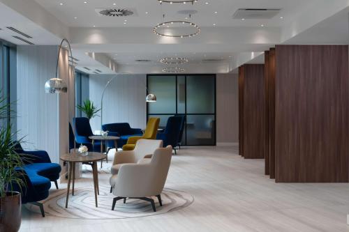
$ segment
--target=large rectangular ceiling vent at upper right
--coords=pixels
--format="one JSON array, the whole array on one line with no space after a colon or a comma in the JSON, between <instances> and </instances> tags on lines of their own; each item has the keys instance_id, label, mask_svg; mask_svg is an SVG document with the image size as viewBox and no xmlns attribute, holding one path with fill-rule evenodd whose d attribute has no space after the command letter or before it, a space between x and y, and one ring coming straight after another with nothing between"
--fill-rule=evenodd
<instances>
[{"instance_id":1,"label":"large rectangular ceiling vent at upper right","mask_svg":"<svg viewBox=\"0 0 349 232\"><path fill-rule=\"evenodd\" d=\"M263 19L271 19L275 17L281 9L277 8L269 8L269 9L261 9L261 8L240 8L232 15L232 18L235 20L263 20Z\"/></svg>"}]
</instances>

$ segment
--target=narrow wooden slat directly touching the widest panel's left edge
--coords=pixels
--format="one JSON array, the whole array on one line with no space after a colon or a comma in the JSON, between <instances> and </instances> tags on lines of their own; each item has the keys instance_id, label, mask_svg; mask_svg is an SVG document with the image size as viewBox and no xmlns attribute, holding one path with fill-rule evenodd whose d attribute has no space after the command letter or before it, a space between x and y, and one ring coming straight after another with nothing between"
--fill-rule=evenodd
<instances>
[{"instance_id":1,"label":"narrow wooden slat directly touching the widest panel's left edge","mask_svg":"<svg viewBox=\"0 0 349 232\"><path fill-rule=\"evenodd\" d=\"M275 178L275 48L269 51L269 175Z\"/></svg>"}]
</instances>

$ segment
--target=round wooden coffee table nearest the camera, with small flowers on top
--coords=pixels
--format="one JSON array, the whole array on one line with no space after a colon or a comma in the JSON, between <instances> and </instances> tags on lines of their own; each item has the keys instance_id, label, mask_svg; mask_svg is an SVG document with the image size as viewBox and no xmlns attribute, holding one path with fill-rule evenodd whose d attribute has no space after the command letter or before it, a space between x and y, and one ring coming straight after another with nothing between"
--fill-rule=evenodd
<instances>
[{"instance_id":1,"label":"round wooden coffee table nearest the camera, with small flowers on top","mask_svg":"<svg viewBox=\"0 0 349 232\"><path fill-rule=\"evenodd\" d=\"M97 194L99 194L99 187L98 187L97 161L104 160L106 157L107 155L103 153L94 153L94 152L89 152L88 155L81 155L80 153L75 153L75 152L61 155L60 159L69 163L68 187L66 192L66 208L68 208L70 181L72 179L72 176L73 176L72 195L74 195L75 163L91 163L92 174L94 176L94 199L96 201L96 207L98 207Z\"/></svg>"}]
</instances>

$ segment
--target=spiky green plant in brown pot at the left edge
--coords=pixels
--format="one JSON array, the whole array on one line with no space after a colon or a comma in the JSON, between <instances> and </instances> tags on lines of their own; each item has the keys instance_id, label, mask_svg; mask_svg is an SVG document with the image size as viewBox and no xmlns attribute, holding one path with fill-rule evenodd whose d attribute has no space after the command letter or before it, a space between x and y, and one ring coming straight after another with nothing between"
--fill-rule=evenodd
<instances>
[{"instance_id":1,"label":"spiky green plant in brown pot at the left edge","mask_svg":"<svg viewBox=\"0 0 349 232\"><path fill-rule=\"evenodd\" d=\"M6 98L0 97L0 231L18 231L21 224L21 194L11 192L13 185L24 187L23 173L19 170L24 163L16 147L20 141L14 139L9 118L12 111Z\"/></svg>"}]
</instances>

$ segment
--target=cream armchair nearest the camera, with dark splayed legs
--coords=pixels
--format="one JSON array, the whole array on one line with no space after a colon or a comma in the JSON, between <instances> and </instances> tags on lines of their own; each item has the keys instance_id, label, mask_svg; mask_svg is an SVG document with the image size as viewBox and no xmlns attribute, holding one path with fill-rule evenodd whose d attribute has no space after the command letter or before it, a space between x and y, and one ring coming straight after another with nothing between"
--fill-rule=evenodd
<instances>
[{"instance_id":1,"label":"cream armchair nearest the camera, with dark splayed legs","mask_svg":"<svg viewBox=\"0 0 349 232\"><path fill-rule=\"evenodd\" d=\"M156 212L154 199L149 196L156 196L161 201L161 192L165 186L168 176L168 169L172 158L172 146L158 148L152 155L149 163L124 164L119 173L110 178L110 185L113 186L112 194L115 197L112 202L112 210L118 200L142 199L149 201Z\"/></svg>"}]
</instances>

